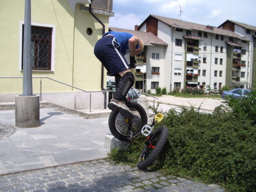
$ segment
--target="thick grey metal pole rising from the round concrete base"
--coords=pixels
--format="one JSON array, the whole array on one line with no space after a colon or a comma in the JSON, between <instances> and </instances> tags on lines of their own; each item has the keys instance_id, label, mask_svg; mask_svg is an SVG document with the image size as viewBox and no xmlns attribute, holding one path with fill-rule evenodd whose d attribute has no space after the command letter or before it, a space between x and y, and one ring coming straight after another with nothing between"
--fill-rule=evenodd
<instances>
[{"instance_id":1,"label":"thick grey metal pole rising from the round concrete base","mask_svg":"<svg viewBox=\"0 0 256 192\"><path fill-rule=\"evenodd\" d=\"M31 0L25 0L23 45L23 96L31 96L33 94L31 60Z\"/></svg>"}]
</instances>

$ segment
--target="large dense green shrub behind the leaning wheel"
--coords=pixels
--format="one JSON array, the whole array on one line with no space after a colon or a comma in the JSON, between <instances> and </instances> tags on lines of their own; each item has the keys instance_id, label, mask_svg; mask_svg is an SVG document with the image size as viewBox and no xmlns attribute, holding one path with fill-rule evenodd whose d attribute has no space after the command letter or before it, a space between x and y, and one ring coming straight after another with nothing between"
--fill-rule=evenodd
<instances>
[{"instance_id":1,"label":"large dense green shrub behind the leaning wheel","mask_svg":"<svg viewBox=\"0 0 256 192\"><path fill-rule=\"evenodd\" d=\"M223 107L213 113L181 107L165 113L156 127L160 125L168 128L169 136L152 169L218 183L230 192L255 191L256 126L250 120L234 118L234 112ZM135 166L144 141L137 138L128 150L111 153L111 159Z\"/></svg>"}]
</instances>

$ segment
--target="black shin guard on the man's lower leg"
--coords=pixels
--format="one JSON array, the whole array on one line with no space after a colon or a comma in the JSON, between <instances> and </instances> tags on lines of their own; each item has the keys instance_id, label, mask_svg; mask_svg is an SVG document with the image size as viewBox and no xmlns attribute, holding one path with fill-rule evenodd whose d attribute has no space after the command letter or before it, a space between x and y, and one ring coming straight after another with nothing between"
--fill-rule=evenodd
<instances>
[{"instance_id":1,"label":"black shin guard on the man's lower leg","mask_svg":"<svg viewBox=\"0 0 256 192\"><path fill-rule=\"evenodd\" d=\"M126 94L134 84L134 75L132 72L126 72L116 85L114 99L118 101L124 100Z\"/></svg>"}]
</instances>

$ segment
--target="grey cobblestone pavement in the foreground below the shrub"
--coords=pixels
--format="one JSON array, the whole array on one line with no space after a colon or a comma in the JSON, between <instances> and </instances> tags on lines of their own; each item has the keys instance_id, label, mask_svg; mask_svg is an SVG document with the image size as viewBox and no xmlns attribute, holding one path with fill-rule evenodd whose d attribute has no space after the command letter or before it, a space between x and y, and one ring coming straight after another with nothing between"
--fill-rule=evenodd
<instances>
[{"instance_id":1,"label":"grey cobblestone pavement in the foreground below the shrub","mask_svg":"<svg viewBox=\"0 0 256 192\"><path fill-rule=\"evenodd\" d=\"M0 176L2 192L224 192L218 185L196 183L159 172L112 164L106 159Z\"/></svg>"}]
</instances>

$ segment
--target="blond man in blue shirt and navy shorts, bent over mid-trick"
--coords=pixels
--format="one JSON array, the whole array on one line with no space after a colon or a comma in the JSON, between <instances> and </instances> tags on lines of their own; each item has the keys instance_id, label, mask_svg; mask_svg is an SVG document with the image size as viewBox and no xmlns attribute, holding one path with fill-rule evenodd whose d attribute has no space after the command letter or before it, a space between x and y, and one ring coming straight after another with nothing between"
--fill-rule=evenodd
<instances>
[{"instance_id":1,"label":"blond man in blue shirt and navy shorts, bent over mid-trick","mask_svg":"<svg viewBox=\"0 0 256 192\"><path fill-rule=\"evenodd\" d=\"M135 54L143 52L144 44L137 36L126 32L109 31L95 44L94 54L104 65L108 74L115 76L116 91L108 103L111 110L119 110L125 118L133 118L132 111L124 104L124 99L132 85L135 68ZM124 55L130 53L130 65Z\"/></svg>"}]
</instances>

